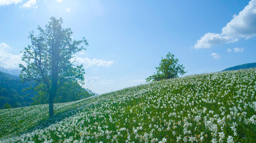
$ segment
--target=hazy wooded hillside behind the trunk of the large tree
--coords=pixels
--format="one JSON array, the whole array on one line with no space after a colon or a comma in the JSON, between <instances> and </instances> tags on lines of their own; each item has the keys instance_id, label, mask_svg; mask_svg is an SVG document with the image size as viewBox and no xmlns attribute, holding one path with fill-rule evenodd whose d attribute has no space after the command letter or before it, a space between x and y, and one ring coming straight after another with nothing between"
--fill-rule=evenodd
<instances>
[{"instance_id":1,"label":"hazy wooded hillside behind the trunk of the large tree","mask_svg":"<svg viewBox=\"0 0 256 143\"><path fill-rule=\"evenodd\" d=\"M0 71L0 108L16 108L35 104L46 104L46 95L39 96L38 92L24 90L34 86L34 82L22 83L19 76ZM94 92L82 88L77 83L64 83L61 86L56 102L71 102L94 96Z\"/></svg>"}]
</instances>

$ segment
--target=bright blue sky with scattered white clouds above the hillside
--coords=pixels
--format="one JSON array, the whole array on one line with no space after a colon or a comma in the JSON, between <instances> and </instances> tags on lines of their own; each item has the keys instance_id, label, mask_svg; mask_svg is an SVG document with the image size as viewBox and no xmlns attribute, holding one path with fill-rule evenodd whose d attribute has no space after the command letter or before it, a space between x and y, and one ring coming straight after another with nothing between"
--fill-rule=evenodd
<instances>
[{"instance_id":1,"label":"bright blue sky with scattered white clouds above the hillside","mask_svg":"<svg viewBox=\"0 0 256 143\"><path fill-rule=\"evenodd\" d=\"M186 75L256 62L256 0L0 0L0 66L18 69L29 32L52 16L88 40L76 56L98 94L145 83L168 52Z\"/></svg>"}]
</instances>

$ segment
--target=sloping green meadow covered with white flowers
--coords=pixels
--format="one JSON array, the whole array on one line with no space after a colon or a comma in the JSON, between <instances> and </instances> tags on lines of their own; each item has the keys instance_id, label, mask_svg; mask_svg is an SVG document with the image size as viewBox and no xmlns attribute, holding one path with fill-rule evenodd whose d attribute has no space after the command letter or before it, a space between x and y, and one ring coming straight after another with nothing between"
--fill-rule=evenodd
<instances>
[{"instance_id":1,"label":"sloping green meadow covered with white flowers","mask_svg":"<svg viewBox=\"0 0 256 143\"><path fill-rule=\"evenodd\" d=\"M256 142L256 69L0 110L0 142Z\"/></svg>"}]
</instances>

